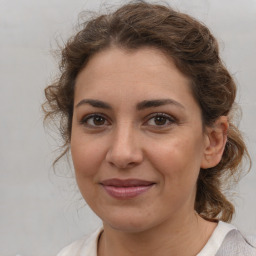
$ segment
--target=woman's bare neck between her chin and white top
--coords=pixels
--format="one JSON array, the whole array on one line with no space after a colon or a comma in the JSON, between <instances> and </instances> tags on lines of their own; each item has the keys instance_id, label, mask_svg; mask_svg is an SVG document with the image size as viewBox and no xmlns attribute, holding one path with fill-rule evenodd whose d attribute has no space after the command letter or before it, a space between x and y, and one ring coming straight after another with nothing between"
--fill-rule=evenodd
<instances>
[{"instance_id":1,"label":"woman's bare neck between her chin and white top","mask_svg":"<svg viewBox=\"0 0 256 256\"><path fill-rule=\"evenodd\" d=\"M104 224L98 256L174 256L196 255L204 247L216 223L194 212L186 218L174 218L146 231L131 233Z\"/></svg>"}]
</instances>

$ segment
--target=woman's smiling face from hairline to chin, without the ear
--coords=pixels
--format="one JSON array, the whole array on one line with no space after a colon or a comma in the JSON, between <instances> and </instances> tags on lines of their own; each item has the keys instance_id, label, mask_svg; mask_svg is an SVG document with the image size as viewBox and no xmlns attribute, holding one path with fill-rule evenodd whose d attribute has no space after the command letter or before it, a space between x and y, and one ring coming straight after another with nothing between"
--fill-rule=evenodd
<instances>
[{"instance_id":1,"label":"woman's smiling face from hairline to chin, without the ear","mask_svg":"<svg viewBox=\"0 0 256 256\"><path fill-rule=\"evenodd\" d=\"M79 189L112 228L138 232L194 211L206 136L189 80L157 49L96 54L75 85Z\"/></svg>"}]
</instances>

